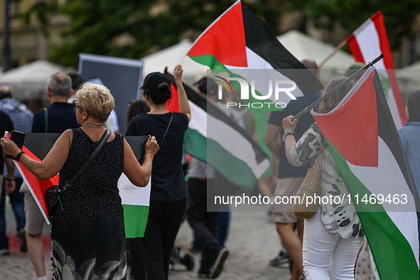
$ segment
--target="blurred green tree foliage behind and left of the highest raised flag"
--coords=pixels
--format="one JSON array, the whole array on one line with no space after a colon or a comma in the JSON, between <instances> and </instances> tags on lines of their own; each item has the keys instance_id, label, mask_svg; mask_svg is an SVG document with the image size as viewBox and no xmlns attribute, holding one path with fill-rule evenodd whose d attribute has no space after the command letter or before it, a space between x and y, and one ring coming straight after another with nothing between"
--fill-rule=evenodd
<instances>
[{"instance_id":1,"label":"blurred green tree foliage behind and left of the highest raised flag","mask_svg":"<svg viewBox=\"0 0 420 280\"><path fill-rule=\"evenodd\" d=\"M250 9L279 33L281 10L270 0L251 1ZM195 40L232 0L73 0L61 9L71 24L65 43L53 50L50 60L77 66L78 53L141 58L156 50Z\"/></svg>"}]
</instances>

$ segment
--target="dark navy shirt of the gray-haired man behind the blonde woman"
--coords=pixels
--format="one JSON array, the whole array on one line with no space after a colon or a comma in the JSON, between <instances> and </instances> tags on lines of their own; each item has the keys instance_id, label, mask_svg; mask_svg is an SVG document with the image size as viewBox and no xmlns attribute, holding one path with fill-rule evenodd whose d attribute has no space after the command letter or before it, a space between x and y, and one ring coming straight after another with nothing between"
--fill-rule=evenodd
<instances>
[{"instance_id":1,"label":"dark navy shirt of the gray-haired man behind the blonde woman","mask_svg":"<svg viewBox=\"0 0 420 280\"><path fill-rule=\"evenodd\" d=\"M54 102L47 111L48 133L63 133L67 129L80 127L76 112L72 109L70 103ZM45 132L45 112L43 109L33 116L32 132Z\"/></svg>"}]
</instances>

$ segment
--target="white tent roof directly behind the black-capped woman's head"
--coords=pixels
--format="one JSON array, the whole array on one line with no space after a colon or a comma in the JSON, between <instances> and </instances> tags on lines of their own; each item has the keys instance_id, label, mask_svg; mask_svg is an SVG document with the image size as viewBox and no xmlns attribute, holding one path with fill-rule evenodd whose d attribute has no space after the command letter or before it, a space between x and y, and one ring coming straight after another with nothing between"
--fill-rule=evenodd
<instances>
[{"instance_id":1,"label":"white tent roof directly behind the black-capped woman's head","mask_svg":"<svg viewBox=\"0 0 420 280\"><path fill-rule=\"evenodd\" d=\"M183 81L192 83L200 77L207 75L208 67L195 63L192 59L185 57L193 43L184 39L178 44L159 50L156 53L147 55L141 60L144 61L143 75L146 77L151 72L163 72L168 66L168 72L173 73L173 69L182 61L183 65Z\"/></svg>"}]
</instances>

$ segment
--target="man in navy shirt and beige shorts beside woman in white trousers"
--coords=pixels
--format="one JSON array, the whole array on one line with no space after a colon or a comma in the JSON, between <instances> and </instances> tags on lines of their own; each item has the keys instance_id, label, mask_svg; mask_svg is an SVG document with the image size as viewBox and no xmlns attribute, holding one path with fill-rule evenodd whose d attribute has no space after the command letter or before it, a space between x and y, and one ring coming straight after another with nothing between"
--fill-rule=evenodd
<instances>
[{"instance_id":1,"label":"man in navy shirt and beige shorts beside woman in white trousers","mask_svg":"<svg viewBox=\"0 0 420 280\"><path fill-rule=\"evenodd\" d=\"M306 66L316 77L319 78L318 65L312 59L302 60L301 63ZM308 107L321 96L321 92L314 92L310 95L298 97L291 100L287 107L281 112L271 112L269 124L266 130L266 145L276 158L279 158L279 169L277 173L277 185L274 196L293 196L298 192L299 187L305 179L309 164L300 167L291 166L286 158L286 150L281 141L278 141L279 135L284 134L281 127L282 120L290 114L298 114ZM315 122L311 114L304 114L299 119L294 134L300 138L303 133L308 130L311 124ZM281 250L279 255L271 259L269 264L277 266L284 262L288 257L293 261L294 267L291 280L300 279L303 274L302 262L302 239L303 239L303 220L293 215L291 204L275 204L274 205L274 222L276 222L276 230L281 239L281 243L286 252ZM295 234L294 227L297 227L298 235Z\"/></svg>"}]
</instances>

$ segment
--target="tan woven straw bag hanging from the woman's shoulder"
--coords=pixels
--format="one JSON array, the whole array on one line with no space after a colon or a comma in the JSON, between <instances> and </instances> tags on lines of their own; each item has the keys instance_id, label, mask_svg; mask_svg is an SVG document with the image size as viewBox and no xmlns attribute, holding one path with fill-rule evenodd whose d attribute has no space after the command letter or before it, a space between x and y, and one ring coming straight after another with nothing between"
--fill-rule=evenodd
<instances>
[{"instance_id":1,"label":"tan woven straw bag hanging from the woman's shoulder","mask_svg":"<svg viewBox=\"0 0 420 280\"><path fill-rule=\"evenodd\" d=\"M295 203L292 207L293 214L295 217L301 219L311 219L319 208L319 203L321 199L315 199L321 193L321 174L323 172L322 162L325 151L325 140L321 145L321 150L318 152L318 157L316 160L312 160L311 168L308 169L306 173L305 180L301 187L296 193ZM321 155L322 154L322 155ZM321 165L318 166L318 158L321 155ZM311 203L308 203L308 197L312 197Z\"/></svg>"}]
</instances>

